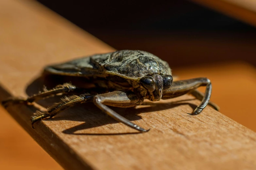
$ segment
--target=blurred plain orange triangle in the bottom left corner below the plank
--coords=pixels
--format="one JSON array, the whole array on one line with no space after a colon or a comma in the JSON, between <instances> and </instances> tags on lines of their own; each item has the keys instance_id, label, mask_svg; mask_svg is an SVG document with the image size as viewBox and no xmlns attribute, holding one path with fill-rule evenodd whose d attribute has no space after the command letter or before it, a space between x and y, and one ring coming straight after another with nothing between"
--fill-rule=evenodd
<instances>
[{"instance_id":1,"label":"blurred plain orange triangle in the bottom left corner below the plank","mask_svg":"<svg viewBox=\"0 0 256 170\"><path fill-rule=\"evenodd\" d=\"M62 169L0 106L0 169Z\"/></svg>"}]
</instances>

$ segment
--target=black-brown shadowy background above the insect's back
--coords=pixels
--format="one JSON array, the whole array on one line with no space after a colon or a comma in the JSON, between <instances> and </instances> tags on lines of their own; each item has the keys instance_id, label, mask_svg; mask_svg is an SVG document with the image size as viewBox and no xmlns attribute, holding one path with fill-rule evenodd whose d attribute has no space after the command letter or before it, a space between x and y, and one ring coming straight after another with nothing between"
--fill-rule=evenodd
<instances>
[{"instance_id":1,"label":"black-brown shadowy background above the insect's back","mask_svg":"<svg viewBox=\"0 0 256 170\"><path fill-rule=\"evenodd\" d=\"M145 50L174 67L256 65L253 26L190 1L38 1L117 50Z\"/></svg>"}]
</instances>

